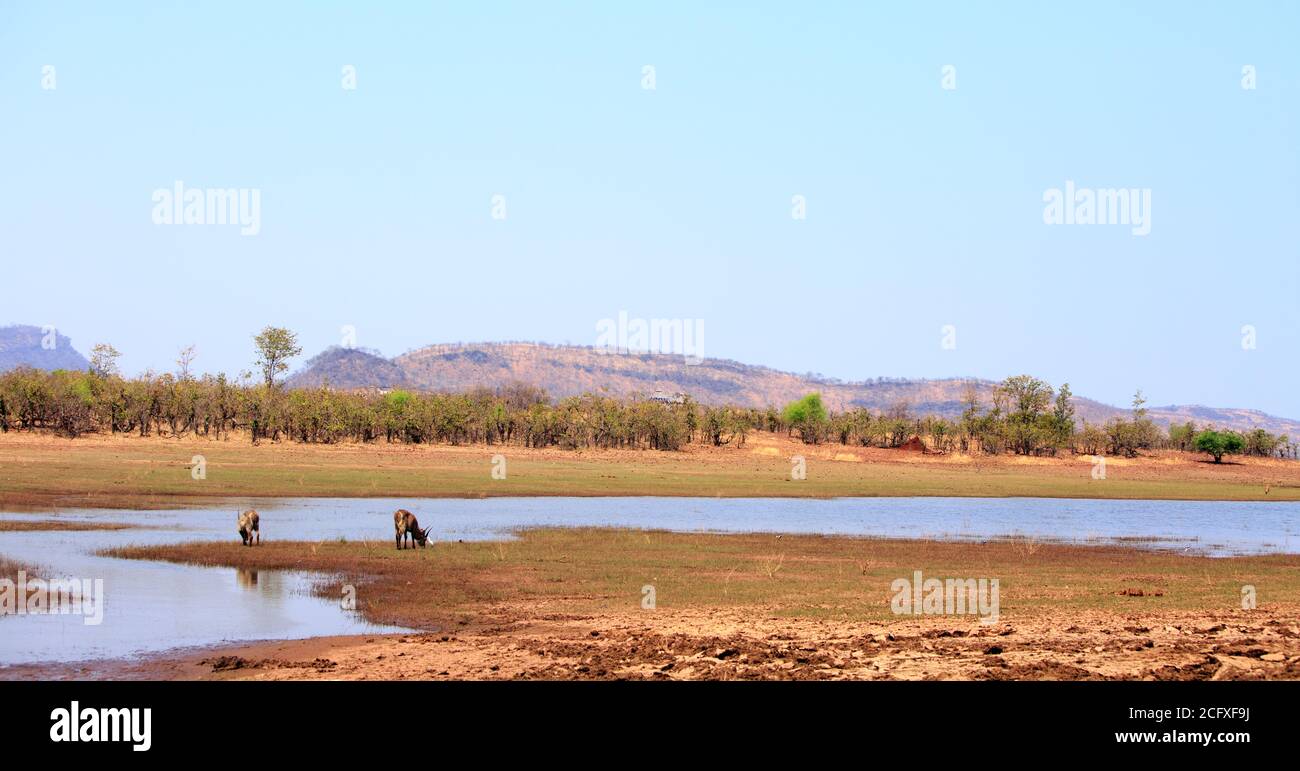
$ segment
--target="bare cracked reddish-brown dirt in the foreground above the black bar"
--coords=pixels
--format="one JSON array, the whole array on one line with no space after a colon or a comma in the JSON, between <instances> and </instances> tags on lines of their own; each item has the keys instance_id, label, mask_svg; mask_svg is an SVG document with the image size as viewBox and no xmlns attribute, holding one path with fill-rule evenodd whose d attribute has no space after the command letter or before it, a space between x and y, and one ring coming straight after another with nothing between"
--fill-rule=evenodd
<instances>
[{"instance_id":1,"label":"bare cracked reddish-brown dirt in the foreground above the black bar","mask_svg":"<svg viewBox=\"0 0 1300 771\"><path fill-rule=\"evenodd\" d=\"M326 637L8 677L182 680L1300 679L1300 619L1271 610L1057 612L984 625L786 619L762 610L597 615L497 606L417 634Z\"/></svg>"}]
</instances>

